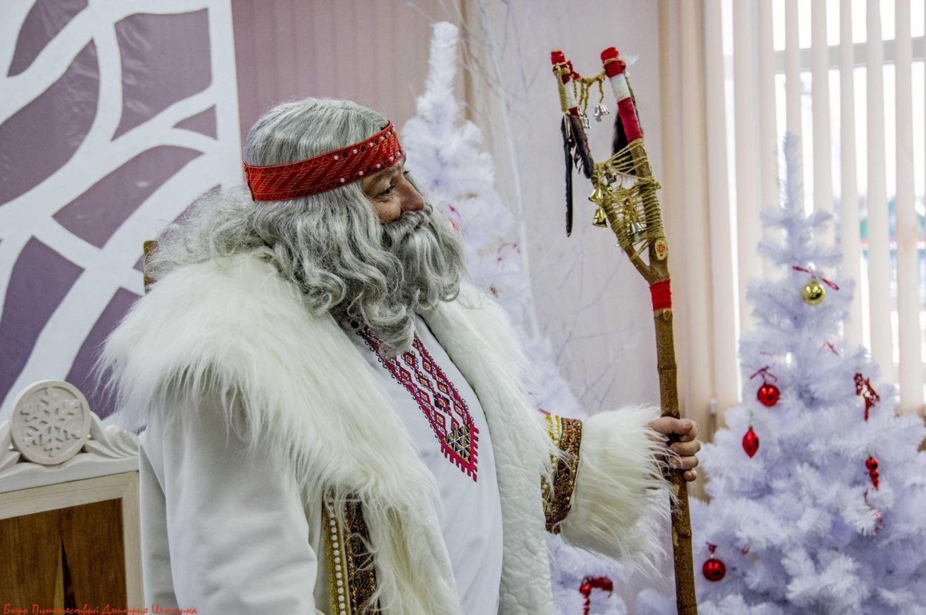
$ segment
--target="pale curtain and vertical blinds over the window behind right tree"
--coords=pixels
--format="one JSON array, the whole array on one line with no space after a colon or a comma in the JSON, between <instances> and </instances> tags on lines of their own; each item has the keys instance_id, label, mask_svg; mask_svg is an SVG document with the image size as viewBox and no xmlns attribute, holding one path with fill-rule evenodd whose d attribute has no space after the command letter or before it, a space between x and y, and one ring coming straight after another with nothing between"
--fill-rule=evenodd
<instances>
[{"instance_id":1,"label":"pale curtain and vertical blinds over the window behind right tree","mask_svg":"<svg viewBox=\"0 0 926 615\"><path fill-rule=\"evenodd\" d=\"M785 131L802 139L807 208L835 216L820 241L844 261L829 273L858 283L845 337L870 348L902 411L922 412L923 4L660 3L664 184L683 198L669 232L683 229L680 369L694 416L740 395L745 284L776 275L756 248Z\"/></svg>"}]
</instances>

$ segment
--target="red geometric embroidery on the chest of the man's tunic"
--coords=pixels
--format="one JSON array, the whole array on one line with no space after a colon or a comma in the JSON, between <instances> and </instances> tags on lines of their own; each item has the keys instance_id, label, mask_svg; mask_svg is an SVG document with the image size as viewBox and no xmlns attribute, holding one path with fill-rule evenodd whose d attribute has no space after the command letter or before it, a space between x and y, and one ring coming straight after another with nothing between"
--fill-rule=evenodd
<instances>
[{"instance_id":1,"label":"red geometric embroidery on the chest of the man's tunic","mask_svg":"<svg viewBox=\"0 0 926 615\"><path fill-rule=\"evenodd\" d=\"M452 461L462 472L476 481L478 465L479 429L473 424L466 401L460 397L444 370L434 362L431 353L415 335L411 348L394 357L380 351L380 341L369 327L361 327L357 335L376 352L395 380L411 393L421 412L441 443L444 458Z\"/></svg>"}]
</instances>

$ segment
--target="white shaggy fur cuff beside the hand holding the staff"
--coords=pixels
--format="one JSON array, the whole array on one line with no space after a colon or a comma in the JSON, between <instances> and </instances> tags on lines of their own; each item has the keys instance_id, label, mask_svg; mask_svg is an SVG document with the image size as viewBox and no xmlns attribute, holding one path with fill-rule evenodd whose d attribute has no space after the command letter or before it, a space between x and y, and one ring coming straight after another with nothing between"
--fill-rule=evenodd
<instances>
[{"instance_id":1,"label":"white shaggy fur cuff beside the hand holding the staff","mask_svg":"<svg viewBox=\"0 0 926 615\"><path fill-rule=\"evenodd\" d=\"M638 563L662 554L670 484L661 471L662 438L646 426L657 417L656 409L628 408L583 421L569 512L558 526L566 542Z\"/></svg>"}]
</instances>

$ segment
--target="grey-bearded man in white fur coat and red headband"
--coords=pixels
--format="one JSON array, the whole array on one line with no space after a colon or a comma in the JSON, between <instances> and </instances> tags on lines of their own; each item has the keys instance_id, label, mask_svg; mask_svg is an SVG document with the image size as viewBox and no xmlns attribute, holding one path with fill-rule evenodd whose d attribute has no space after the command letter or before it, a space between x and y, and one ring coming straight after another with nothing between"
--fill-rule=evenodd
<instances>
[{"instance_id":1,"label":"grey-bearded man in white fur coat and red headband","mask_svg":"<svg viewBox=\"0 0 926 615\"><path fill-rule=\"evenodd\" d=\"M144 591L200 613L552 613L547 531L654 548L665 460L696 425L544 416L507 318L393 125L346 101L270 109L248 191L213 194L149 259L106 344L146 424ZM679 442L666 449L666 436Z\"/></svg>"}]
</instances>

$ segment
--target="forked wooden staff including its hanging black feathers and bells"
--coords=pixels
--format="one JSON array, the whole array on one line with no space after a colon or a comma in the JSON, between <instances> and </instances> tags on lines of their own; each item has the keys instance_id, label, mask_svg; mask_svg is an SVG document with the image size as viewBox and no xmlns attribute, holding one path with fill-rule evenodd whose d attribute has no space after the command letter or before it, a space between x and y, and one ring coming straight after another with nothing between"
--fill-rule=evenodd
<instances>
[{"instance_id":1,"label":"forked wooden staff including its hanging black feathers and bells","mask_svg":"<svg viewBox=\"0 0 926 615\"><path fill-rule=\"evenodd\" d=\"M553 74L557 78L562 107L562 134L566 158L567 235L572 230L572 166L592 182L589 201L594 203L593 224L610 227L619 248L649 284L656 327L659 401L662 415L680 418L679 392L672 330L672 299L669 289L669 244L662 225L657 190L659 182L646 155L643 130L627 79L627 65L618 50L608 47L601 52L602 70L594 77L582 77L555 50L550 54ZM596 163L589 149L585 129L589 99L597 93L594 117L608 113L605 104L605 81L616 99L612 154ZM644 258L645 257L645 258ZM668 479L676 498L670 502L672 547L675 563L676 607L679 615L696 615L691 518L688 510L688 487L683 470L669 470Z\"/></svg>"}]
</instances>

